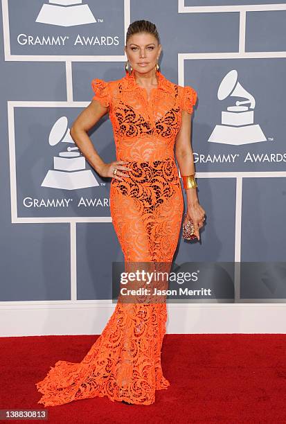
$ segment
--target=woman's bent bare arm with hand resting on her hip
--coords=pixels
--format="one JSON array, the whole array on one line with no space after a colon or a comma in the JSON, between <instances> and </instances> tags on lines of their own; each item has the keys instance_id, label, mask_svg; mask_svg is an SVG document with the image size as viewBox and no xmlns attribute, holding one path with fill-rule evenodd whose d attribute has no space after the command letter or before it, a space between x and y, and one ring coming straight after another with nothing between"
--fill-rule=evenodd
<instances>
[{"instance_id":1,"label":"woman's bent bare arm with hand resting on her hip","mask_svg":"<svg viewBox=\"0 0 286 424\"><path fill-rule=\"evenodd\" d=\"M87 134L87 132L96 125L100 118L107 114L108 110L109 108L102 106L98 100L91 100L91 103L73 122L70 134L84 157L87 161L89 161L89 164L91 164L99 175L102 177L113 177L122 180L121 177L124 177L125 174L118 171L118 173L114 175L114 168L117 168L118 170L129 170L129 168L123 166L123 164L127 162L113 161L111 164L105 164Z\"/></svg>"}]
</instances>

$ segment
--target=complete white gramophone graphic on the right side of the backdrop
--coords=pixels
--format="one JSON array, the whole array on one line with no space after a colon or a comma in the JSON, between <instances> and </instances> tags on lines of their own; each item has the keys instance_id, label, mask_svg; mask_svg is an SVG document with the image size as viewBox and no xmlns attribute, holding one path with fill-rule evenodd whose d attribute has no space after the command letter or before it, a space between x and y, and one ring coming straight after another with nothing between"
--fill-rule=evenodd
<instances>
[{"instance_id":1,"label":"complete white gramophone graphic on the right side of the backdrop","mask_svg":"<svg viewBox=\"0 0 286 424\"><path fill-rule=\"evenodd\" d=\"M238 100L235 106L229 106L227 111L222 111L222 125L215 125L208 141L233 145L267 141L260 125L253 123L254 114L250 109L254 109L256 100L240 85L238 71L235 69L226 73L217 90L219 100L224 100L227 96L238 96L247 100ZM250 105L240 106L246 103Z\"/></svg>"}]
</instances>

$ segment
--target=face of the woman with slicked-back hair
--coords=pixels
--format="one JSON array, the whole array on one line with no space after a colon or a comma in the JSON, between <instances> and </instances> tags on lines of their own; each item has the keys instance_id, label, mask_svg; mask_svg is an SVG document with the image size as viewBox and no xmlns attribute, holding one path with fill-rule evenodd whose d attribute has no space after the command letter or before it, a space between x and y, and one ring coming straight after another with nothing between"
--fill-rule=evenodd
<instances>
[{"instance_id":1,"label":"face of the woman with slicked-back hair","mask_svg":"<svg viewBox=\"0 0 286 424\"><path fill-rule=\"evenodd\" d=\"M161 44L152 34L138 33L129 37L125 53L136 72L148 73L154 69L161 53Z\"/></svg>"}]
</instances>

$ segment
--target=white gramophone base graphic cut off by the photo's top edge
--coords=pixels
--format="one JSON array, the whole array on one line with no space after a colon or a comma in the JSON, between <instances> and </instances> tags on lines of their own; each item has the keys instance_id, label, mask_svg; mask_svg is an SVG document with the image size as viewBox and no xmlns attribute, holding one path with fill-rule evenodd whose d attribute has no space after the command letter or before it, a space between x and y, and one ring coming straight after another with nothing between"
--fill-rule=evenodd
<instances>
[{"instance_id":1,"label":"white gramophone base graphic cut off by the photo's top edge","mask_svg":"<svg viewBox=\"0 0 286 424\"><path fill-rule=\"evenodd\" d=\"M39 11L36 22L59 26L93 24L96 22L89 6L82 0L48 0Z\"/></svg>"}]
</instances>

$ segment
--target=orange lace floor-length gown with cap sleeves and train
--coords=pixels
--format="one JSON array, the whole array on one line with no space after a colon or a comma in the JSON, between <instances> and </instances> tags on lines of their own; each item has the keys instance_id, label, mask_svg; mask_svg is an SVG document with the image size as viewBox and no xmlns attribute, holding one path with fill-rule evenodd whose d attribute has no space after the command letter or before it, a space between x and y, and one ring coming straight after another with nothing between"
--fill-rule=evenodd
<instances>
[{"instance_id":1,"label":"orange lace floor-length gown with cap sleeves and train","mask_svg":"<svg viewBox=\"0 0 286 424\"><path fill-rule=\"evenodd\" d=\"M111 179L110 210L125 263L172 263L179 239L184 200L174 145L181 112L193 113L197 93L157 71L150 98L134 78L98 78L95 96L109 107L116 160L128 161L124 181ZM125 171L126 173L126 171ZM57 361L37 382L45 407L108 396L138 405L154 403L155 391L170 382L163 376L161 346L166 333L166 302L118 301L107 325L80 363Z\"/></svg>"}]
</instances>

